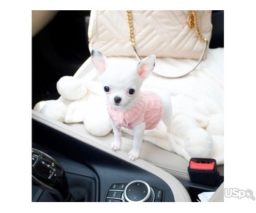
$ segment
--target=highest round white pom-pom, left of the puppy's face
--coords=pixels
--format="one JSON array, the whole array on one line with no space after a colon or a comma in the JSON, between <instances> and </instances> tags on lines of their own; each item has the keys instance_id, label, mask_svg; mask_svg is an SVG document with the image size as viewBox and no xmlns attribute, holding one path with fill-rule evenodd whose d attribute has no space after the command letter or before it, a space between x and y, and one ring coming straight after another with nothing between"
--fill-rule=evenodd
<instances>
[{"instance_id":1,"label":"highest round white pom-pom, left of the puppy's face","mask_svg":"<svg viewBox=\"0 0 256 213\"><path fill-rule=\"evenodd\" d=\"M64 98L75 101L87 93L86 85L78 78L64 76L57 82L58 93Z\"/></svg>"}]
</instances>

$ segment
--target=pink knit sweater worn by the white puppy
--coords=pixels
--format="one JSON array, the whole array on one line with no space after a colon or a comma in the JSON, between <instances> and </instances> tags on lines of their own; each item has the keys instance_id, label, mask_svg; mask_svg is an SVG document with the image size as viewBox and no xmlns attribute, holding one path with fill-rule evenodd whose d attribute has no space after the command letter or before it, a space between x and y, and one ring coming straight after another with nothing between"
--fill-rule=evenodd
<instances>
[{"instance_id":1,"label":"pink knit sweater worn by the white puppy","mask_svg":"<svg viewBox=\"0 0 256 213\"><path fill-rule=\"evenodd\" d=\"M119 128L133 128L138 123L145 122L146 129L152 129L161 120L162 100L156 93L142 92L137 103L131 109L121 111L108 104L108 112Z\"/></svg>"}]
</instances>

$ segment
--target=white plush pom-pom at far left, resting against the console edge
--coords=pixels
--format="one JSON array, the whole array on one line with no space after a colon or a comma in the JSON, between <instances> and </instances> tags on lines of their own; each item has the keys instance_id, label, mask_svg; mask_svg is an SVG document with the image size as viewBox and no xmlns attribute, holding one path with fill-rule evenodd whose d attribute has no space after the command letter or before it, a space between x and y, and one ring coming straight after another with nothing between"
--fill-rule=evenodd
<instances>
[{"instance_id":1,"label":"white plush pom-pom at far left, resting against the console edge","mask_svg":"<svg viewBox=\"0 0 256 213\"><path fill-rule=\"evenodd\" d=\"M42 115L52 118L53 120L58 120L59 122L64 122L64 117L66 114L66 106L61 101L50 100L45 101L44 106L40 110Z\"/></svg>"}]
</instances>

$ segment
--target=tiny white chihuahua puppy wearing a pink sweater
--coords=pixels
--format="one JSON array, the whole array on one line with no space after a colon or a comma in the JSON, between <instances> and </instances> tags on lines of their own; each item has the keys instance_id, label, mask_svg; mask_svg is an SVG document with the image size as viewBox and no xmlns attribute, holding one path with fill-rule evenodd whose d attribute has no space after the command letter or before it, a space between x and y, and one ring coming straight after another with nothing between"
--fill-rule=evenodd
<instances>
[{"instance_id":1,"label":"tiny white chihuahua puppy wearing a pink sweater","mask_svg":"<svg viewBox=\"0 0 256 213\"><path fill-rule=\"evenodd\" d=\"M156 57L149 55L137 64L111 64L97 50L92 50L91 61L101 73L102 85L107 96L108 112L114 133L113 150L121 148L121 127L132 129L133 147L129 158L140 157L143 133L153 129L159 121L170 131L172 105L170 96L159 96L140 91L143 81L154 69Z\"/></svg>"}]
</instances>

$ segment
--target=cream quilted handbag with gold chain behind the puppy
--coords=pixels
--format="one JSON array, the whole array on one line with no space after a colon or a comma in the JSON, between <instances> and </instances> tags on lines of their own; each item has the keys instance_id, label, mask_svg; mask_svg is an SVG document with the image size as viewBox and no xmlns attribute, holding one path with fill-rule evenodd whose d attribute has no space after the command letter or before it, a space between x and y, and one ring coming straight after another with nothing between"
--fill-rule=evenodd
<instances>
[{"instance_id":1,"label":"cream quilted handbag with gold chain behind the puppy","mask_svg":"<svg viewBox=\"0 0 256 213\"><path fill-rule=\"evenodd\" d=\"M89 49L107 57L154 54L165 62L166 58L197 60L193 69L164 74L181 77L206 57L211 31L211 10L97 10L91 11Z\"/></svg>"}]
</instances>

